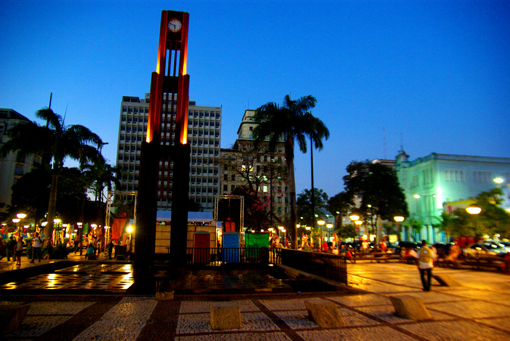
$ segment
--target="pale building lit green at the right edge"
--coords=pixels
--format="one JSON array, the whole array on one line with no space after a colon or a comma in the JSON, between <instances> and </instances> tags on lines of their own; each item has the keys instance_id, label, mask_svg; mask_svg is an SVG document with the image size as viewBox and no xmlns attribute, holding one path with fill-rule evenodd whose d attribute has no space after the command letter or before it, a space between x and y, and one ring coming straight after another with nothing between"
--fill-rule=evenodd
<instances>
[{"instance_id":1,"label":"pale building lit green at the right edge","mask_svg":"<svg viewBox=\"0 0 510 341\"><path fill-rule=\"evenodd\" d=\"M445 241L444 232L432 226L439 223L444 204L474 198L495 187L503 190L502 208L508 208L504 206L508 205L510 158L431 153L409 161L409 155L400 150L396 160L397 176L409 208L408 219L423 226L419 233L403 229L401 240ZM495 182L497 178L503 182Z\"/></svg>"}]
</instances>

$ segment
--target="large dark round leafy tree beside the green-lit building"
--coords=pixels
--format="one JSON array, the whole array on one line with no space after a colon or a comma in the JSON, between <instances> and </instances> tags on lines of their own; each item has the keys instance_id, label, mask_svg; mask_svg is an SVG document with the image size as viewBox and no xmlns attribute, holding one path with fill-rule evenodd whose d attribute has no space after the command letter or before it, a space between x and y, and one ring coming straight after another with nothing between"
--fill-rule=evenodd
<instances>
[{"instance_id":1,"label":"large dark round leafy tree beside the green-lit building","mask_svg":"<svg viewBox=\"0 0 510 341\"><path fill-rule=\"evenodd\" d=\"M396 214L409 216L407 203L395 170L380 163L351 162L343 177L347 194L361 197L360 210L372 230L379 218L393 220Z\"/></svg>"}]
</instances>

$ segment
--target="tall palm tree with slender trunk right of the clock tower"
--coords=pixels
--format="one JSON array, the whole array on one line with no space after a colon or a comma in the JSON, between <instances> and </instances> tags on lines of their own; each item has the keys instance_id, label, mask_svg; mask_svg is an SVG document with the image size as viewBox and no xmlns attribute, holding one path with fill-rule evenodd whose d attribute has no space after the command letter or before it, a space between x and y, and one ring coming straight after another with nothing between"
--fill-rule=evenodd
<instances>
[{"instance_id":1,"label":"tall palm tree with slender trunk right of the clock tower","mask_svg":"<svg viewBox=\"0 0 510 341\"><path fill-rule=\"evenodd\" d=\"M322 148L322 138L329 137L329 130L324 123L308 112L315 107L316 102L317 99L312 95L295 100L286 95L282 106L268 102L259 107L253 115L254 123L258 124L253 129L254 145L257 146L262 141L268 140L271 152L274 152L278 143L283 142L285 146L285 163L289 170L290 231L293 248L297 248L294 141L297 141L299 150L305 153L307 152L307 136L318 149Z\"/></svg>"}]
</instances>

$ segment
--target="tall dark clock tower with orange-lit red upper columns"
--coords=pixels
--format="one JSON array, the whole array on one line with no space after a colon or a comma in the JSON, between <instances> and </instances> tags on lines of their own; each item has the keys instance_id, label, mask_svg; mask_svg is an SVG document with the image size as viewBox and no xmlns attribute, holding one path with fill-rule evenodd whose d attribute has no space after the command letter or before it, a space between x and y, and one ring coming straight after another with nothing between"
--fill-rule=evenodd
<instances>
[{"instance_id":1,"label":"tall dark clock tower with orange-lit red upper columns","mask_svg":"<svg viewBox=\"0 0 510 341\"><path fill-rule=\"evenodd\" d=\"M161 12L158 63L150 80L147 137L140 155L136 276L151 273L154 267L158 196L172 199L171 264L175 270L186 265L190 157L187 142L189 75L186 74L188 19L186 12ZM170 168L172 161L173 168ZM177 271L172 273L177 274Z\"/></svg>"}]
</instances>

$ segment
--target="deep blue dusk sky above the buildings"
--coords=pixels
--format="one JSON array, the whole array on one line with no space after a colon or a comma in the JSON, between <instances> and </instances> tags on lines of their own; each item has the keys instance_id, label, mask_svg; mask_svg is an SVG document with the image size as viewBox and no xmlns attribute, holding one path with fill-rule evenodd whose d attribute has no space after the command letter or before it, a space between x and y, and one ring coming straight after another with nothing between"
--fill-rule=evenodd
<instances>
[{"instance_id":1,"label":"deep blue dusk sky above the buildings","mask_svg":"<svg viewBox=\"0 0 510 341\"><path fill-rule=\"evenodd\" d=\"M246 109L317 98L331 135L315 187L329 196L351 161L394 159L401 143L411 160L510 157L508 1L3 0L0 107L35 120L53 92L114 164L120 102L149 92L162 10L190 14L190 99L222 106L222 147ZM310 152L295 165L299 193Z\"/></svg>"}]
</instances>

